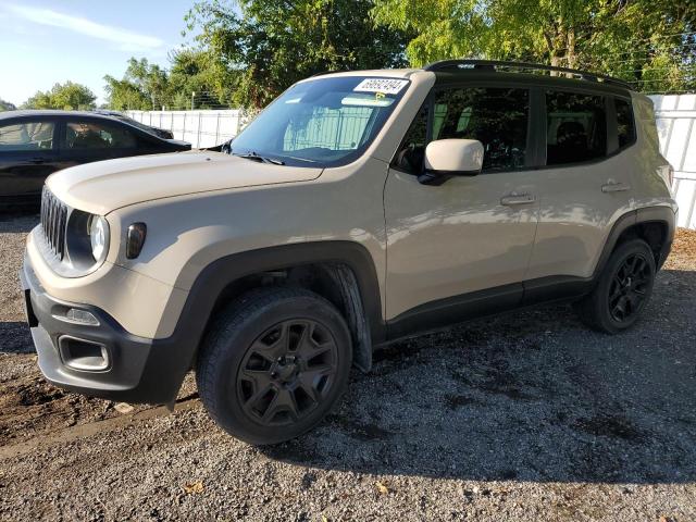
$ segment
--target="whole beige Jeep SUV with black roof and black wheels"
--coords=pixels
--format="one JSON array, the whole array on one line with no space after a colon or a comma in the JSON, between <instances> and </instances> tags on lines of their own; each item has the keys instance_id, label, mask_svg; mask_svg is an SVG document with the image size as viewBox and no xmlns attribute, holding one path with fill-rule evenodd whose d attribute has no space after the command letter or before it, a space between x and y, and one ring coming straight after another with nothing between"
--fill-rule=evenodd
<instances>
[{"instance_id":1,"label":"whole beige Jeep SUV with black roof and black wheels","mask_svg":"<svg viewBox=\"0 0 696 522\"><path fill-rule=\"evenodd\" d=\"M320 75L227 149L48 179L21 276L50 382L173 405L195 369L224 430L277 443L408 335L556 300L627 328L674 232L649 99L584 72Z\"/></svg>"}]
</instances>

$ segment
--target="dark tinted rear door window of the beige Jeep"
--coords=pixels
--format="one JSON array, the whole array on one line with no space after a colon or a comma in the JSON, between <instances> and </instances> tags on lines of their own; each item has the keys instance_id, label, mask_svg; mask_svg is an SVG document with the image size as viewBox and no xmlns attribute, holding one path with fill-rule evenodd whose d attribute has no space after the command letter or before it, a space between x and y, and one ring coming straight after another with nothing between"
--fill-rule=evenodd
<instances>
[{"instance_id":1,"label":"dark tinted rear door window of the beige Jeep","mask_svg":"<svg viewBox=\"0 0 696 522\"><path fill-rule=\"evenodd\" d=\"M602 96L546 94L546 164L596 160L607 154Z\"/></svg>"}]
</instances>

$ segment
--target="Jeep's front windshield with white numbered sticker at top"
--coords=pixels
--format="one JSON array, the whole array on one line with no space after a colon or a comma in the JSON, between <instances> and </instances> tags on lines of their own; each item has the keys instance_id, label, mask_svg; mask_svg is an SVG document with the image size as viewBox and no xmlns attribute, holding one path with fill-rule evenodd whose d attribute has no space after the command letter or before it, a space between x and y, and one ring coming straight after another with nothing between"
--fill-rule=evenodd
<instances>
[{"instance_id":1,"label":"Jeep's front windshield with white numbered sticker at top","mask_svg":"<svg viewBox=\"0 0 696 522\"><path fill-rule=\"evenodd\" d=\"M234 139L232 153L287 165L350 163L370 146L408 84L369 76L296 84Z\"/></svg>"}]
</instances>

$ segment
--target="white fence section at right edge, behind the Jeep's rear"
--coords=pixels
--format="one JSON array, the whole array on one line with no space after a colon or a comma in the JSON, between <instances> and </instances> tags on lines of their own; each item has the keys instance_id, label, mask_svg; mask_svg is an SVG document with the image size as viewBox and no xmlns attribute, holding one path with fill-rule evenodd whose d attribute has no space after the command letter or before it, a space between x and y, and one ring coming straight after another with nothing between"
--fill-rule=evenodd
<instances>
[{"instance_id":1,"label":"white fence section at right edge, behind the Jeep's rear","mask_svg":"<svg viewBox=\"0 0 696 522\"><path fill-rule=\"evenodd\" d=\"M660 149L674 167L679 226L696 228L696 95L651 96Z\"/></svg>"}]
</instances>

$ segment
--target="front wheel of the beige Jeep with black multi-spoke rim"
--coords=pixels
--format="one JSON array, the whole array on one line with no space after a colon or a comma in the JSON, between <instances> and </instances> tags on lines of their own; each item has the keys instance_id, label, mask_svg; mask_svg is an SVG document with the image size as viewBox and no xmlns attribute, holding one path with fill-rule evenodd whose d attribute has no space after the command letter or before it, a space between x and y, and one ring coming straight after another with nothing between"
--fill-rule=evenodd
<instances>
[{"instance_id":1,"label":"front wheel of the beige Jeep with black multi-spoke rim","mask_svg":"<svg viewBox=\"0 0 696 522\"><path fill-rule=\"evenodd\" d=\"M207 335L196 368L212 419L254 445L314 427L348 384L350 333L338 310L304 289L251 290L227 306Z\"/></svg>"}]
</instances>

